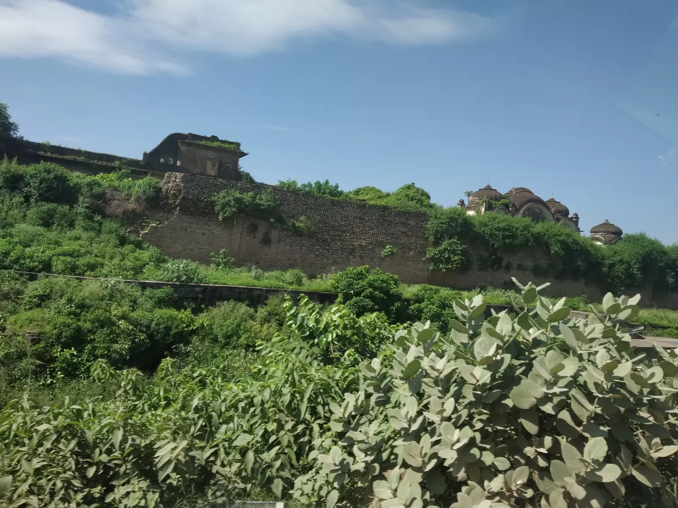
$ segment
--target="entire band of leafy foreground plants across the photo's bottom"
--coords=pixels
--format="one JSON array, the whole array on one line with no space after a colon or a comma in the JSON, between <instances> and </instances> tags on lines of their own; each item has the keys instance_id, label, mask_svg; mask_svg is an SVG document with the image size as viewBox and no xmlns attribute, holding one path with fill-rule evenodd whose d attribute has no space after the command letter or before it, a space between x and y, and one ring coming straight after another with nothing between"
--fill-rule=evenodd
<instances>
[{"instance_id":1,"label":"entire band of leafy foreground plants across the photo's bottom","mask_svg":"<svg viewBox=\"0 0 678 508\"><path fill-rule=\"evenodd\" d=\"M537 293L523 289L526 302ZM678 355L635 354L620 323L635 301L607 295L610 317L583 322L538 299L533 314L483 322L482 297L456 300L449 341L420 323L393 334L378 315L287 303L290 329L264 338L256 378L165 360L148 382L96 362L114 397L9 404L0 496L104 508L255 492L330 508L668 499Z\"/></svg>"}]
</instances>

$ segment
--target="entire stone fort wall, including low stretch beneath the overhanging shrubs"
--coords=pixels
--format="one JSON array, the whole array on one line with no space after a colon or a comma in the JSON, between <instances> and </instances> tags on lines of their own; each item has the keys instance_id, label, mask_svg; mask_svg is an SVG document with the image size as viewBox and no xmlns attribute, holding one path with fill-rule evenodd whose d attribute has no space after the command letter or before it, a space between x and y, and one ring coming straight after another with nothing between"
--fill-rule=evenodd
<instances>
[{"instance_id":1,"label":"entire stone fort wall, including low stretch beneath the overhanging shrubs","mask_svg":"<svg viewBox=\"0 0 678 508\"><path fill-rule=\"evenodd\" d=\"M253 184L252 190L275 192L280 211L287 221L308 217L315 228L313 236L296 236L285 226L271 227L252 217L236 217L220 224L211 197L237 182L186 173L166 173L163 180L163 205L151 215L141 237L170 257L207 263L210 253L226 249L240 266L262 270L300 268L308 274L341 271L348 266L378 267L396 274L408 284L436 284L458 289L477 287L515 288L511 277L534 284L551 282L544 291L554 296L586 295L600 301L598 287L582 280L552 280L532 274L532 267L545 265L546 257L534 252L503 256L504 268L467 272L430 273L423 259L427 242L424 229L426 213L399 211L391 207L367 205L358 201L335 200L322 196L290 192L276 186ZM256 224L253 232L251 224ZM386 245L397 253L381 257ZM510 269L506 269L506 263ZM635 293L635 292L633 292ZM642 303L669 308L678 307L678 294L660 297L652 289L641 291ZM655 301L657 300L657 301ZM661 300L661 301L660 301Z\"/></svg>"}]
</instances>

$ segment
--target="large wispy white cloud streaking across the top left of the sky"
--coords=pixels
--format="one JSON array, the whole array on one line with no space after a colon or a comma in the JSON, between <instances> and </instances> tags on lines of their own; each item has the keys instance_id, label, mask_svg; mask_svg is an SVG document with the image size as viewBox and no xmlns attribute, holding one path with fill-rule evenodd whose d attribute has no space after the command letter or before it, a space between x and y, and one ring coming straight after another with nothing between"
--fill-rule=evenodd
<instances>
[{"instance_id":1,"label":"large wispy white cloud streaking across the top left of the sky","mask_svg":"<svg viewBox=\"0 0 678 508\"><path fill-rule=\"evenodd\" d=\"M483 35L476 14L414 0L117 0L113 15L64 0L0 0L0 57L62 58L126 74L182 72L186 50L252 56L295 39L343 35L445 43Z\"/></svg>"}]
</instances>

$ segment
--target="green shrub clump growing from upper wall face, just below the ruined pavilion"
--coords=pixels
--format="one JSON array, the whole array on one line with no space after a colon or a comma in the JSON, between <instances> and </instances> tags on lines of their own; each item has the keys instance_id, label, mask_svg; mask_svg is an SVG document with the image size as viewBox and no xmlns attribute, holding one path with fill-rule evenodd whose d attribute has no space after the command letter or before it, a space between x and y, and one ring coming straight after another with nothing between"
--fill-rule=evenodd
<instances>
[{"instance_id":1,"label":"green shrub clump growing from upper wall face, just below the ruined pavilion","mask_svg":"<svg viewBox=\"0 0 678 508\"><path fill-rule=\"evenodd\" d=\"M272 226L285 222L278 210L278 199L271 189L264 192L224 190L214 196L214 207L222 222L233 219L236 215L264 219Z\"/></svg>"}]
</instances>

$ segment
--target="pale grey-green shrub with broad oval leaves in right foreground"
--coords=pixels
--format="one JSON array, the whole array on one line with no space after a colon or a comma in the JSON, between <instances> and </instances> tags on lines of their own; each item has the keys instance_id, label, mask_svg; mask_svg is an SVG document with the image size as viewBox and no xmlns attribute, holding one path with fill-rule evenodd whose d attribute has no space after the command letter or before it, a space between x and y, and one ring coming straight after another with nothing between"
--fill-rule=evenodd
<instances>
[{"instance_id":1,"label":"pale grey-green shrub with broad oval leaves in right foreground","mask_svg":"<svg viewBox=\"0 0 678 508\"><path fill-rule=\"evenodd\" d=\"M607 294L609 316L588 322L543 298L483 322L479 296L454 302L451 343L420 323L397 333L389 361L363 362L360 389L333 406L336 436L297 490L368 492L384 508L591 507L644 487L669 499L678 354L635 354L621 323L638 299Z\"/></svg>"}]
</instances>

